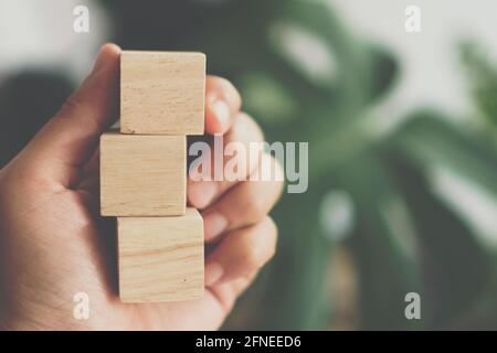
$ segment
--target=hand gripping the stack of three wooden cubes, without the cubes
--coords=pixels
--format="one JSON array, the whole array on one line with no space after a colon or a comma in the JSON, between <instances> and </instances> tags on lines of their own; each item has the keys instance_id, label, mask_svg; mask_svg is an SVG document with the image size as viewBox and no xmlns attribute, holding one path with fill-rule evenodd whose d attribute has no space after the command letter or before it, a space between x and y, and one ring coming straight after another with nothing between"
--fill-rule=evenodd
<instances>
[{"instance_id":1,"label":"hand gripping the stack of three wooden cubes, without the cubes","mask_svg":"<svg viewBox=\"0 0 497 353\"><path fill-rule=\"evenodd\" d=\"M281 182L189 181L189 204L202 210L213 247L204 297L120 303L115 224L98 215L97 149L117 116L119 53L104 45L77 92L0 170L0 329L214 330L274 255L277 231L267 213ZM224 135L225 143L263 140L228 81L208 77L205 101L207 133ZM73 315L77 292L89 296L88 320Z\"/></svg>"}]
</instances>

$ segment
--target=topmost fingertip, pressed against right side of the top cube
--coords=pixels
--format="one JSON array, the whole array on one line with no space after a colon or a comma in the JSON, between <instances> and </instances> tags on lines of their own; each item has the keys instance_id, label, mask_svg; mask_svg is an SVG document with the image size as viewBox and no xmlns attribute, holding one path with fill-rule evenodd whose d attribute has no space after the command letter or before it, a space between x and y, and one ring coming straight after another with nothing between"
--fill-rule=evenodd
<instances>
[{"instance_id":1,"label":"topmost fingertip, pressed against right side of the top cube","mask_svg":"<svg viewBox=\"0 0 497 353\"><path fill-rule=\"evenodd\" d=\"M205 83L205 131L225 133L242 107L236 88L226 79L209 76Z\"/></svg>"}]
</instances>

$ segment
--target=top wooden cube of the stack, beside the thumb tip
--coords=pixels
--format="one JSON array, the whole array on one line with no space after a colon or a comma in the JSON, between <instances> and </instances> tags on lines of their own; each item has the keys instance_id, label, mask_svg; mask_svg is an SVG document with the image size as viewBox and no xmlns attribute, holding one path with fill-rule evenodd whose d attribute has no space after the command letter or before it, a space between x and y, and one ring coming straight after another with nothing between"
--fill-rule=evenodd
<instances>
[{"instance_id":1,"label":"top wooden cube of the stack, beside the thumb tip","mask_svg":"<svg viewBox=\"0 0 497 353\"><path fill-rule=\"evenodd\" d=\"M203 135L204 100L204 54L123 52L121 133Z\"/></svg>"}]
</instances>

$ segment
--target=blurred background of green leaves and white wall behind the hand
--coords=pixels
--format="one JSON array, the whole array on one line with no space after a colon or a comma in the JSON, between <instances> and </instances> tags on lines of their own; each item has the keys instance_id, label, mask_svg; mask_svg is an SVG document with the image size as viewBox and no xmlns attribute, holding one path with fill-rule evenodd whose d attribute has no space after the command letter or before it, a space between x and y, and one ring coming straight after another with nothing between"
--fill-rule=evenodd
<instances>
[{"instance_id":1,"label":"blurred background of green leaves and white wall behind the hand","mask_svg":"<svg viewBox=\"0 0 497 353\"><path fill-rule=\"evenodd\" d=\"M408 33L404 10L421 10ZM73 10L86 6L89 31ZM497 329L493 0L0 0L0 167L106 41L203 51L269 141L309 142L309 190L225 329ZM421 320L404 315L421 296Z\"/></svg>"}]
</instances>

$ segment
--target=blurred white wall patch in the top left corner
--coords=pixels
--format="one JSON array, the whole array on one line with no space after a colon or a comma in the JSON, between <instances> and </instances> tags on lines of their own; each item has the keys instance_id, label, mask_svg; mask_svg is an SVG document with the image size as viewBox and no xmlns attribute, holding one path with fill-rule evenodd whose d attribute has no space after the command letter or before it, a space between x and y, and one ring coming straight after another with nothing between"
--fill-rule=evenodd
<instances>
[{"instance_id":1,"label":"blurred white wall patch in the top left corner","mask_svg":"<svg viewBox=\"0 0 497 353\"><path fill-rule=\"evenodd\" d=\"M91 10L89 33L73 31L77 4ZM62 68L80 81L109 36L91 0L0 0L0 79L25 67Z\"/></svg>"}]
</instances>

